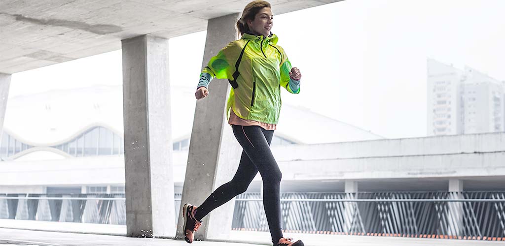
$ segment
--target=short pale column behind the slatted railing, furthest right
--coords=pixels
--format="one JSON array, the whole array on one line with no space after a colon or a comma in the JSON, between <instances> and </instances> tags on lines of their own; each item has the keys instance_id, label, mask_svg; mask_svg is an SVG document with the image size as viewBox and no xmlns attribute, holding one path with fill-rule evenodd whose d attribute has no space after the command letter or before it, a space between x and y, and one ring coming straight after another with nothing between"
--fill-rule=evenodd
<instances>
[{"instance_id":1,"label":"short pale column behind the slatted railing, furthest right","mask_svg":"<svg viewBox=\"0 0 505 246\"><path fill-rule=\"evenodd\" d=\"M449 179L449 199L463 199L463 180L451 178ZM448 202L447 203L447 232L449 235L463 235L463 218L464 218L463 203Z\"/></svg>"}]
</instances>

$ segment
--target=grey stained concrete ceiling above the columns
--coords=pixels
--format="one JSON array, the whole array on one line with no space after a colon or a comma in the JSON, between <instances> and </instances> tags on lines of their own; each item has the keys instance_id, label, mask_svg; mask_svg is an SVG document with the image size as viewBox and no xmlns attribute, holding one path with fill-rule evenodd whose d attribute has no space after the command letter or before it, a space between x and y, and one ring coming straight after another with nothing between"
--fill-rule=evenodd
<instances>
[{"instance_id":1,"label":"grey stained concrete ceiling above the columns","mask_svg":"<svg viewBox=\"0 0 505 246\"><path fill-rule=\"evenodd\" d=\"M283 14L342 0L271 0ZM207 29L250 0L2 0L0 73L13 74L121 48L150 34L171 38Z\"/></svg>"}]
</instances>

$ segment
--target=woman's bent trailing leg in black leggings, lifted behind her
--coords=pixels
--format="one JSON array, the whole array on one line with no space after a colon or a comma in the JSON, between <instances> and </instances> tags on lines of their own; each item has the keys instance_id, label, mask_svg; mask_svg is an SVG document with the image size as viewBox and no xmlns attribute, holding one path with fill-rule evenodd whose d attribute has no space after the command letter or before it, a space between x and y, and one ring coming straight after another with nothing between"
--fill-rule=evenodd
<instances>
[{"instance_id":1,"label":"woman's bent trailing leg in black leggings, lifted behind her","mask_svg":"<svg viewBox=\"0 0 505 246\"><path fill-rule=\"evenodd\" d=\"M217 207L230 201L239 194L244 193L249 187L249 183L258 173L258 169L253 165L249 157L242 151L237 172L231 181L216 189L198 208L196 208L195 218L200 221L207 214Z\"/></svg>"}]
</instances>

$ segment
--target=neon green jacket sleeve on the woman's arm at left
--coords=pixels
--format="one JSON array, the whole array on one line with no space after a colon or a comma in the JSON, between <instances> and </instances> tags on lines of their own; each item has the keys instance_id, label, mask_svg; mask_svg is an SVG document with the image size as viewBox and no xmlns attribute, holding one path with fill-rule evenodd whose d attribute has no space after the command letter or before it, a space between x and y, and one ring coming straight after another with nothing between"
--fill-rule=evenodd
<instances>
[{"instance_id":1,"label":"neon green jacket sleeve on the woman's arm at left","mask_svg":"<svg viewBox=\"0 0 505 246\"><path fill-rule=\"evenodd\" d=\"M213 78L231 79L239 54L238 44L235 41L230 42L209 60L207 66L201 71L200 78L204 73L207 73L211 76L210 80Z\"/></svg>"}]
</instances>

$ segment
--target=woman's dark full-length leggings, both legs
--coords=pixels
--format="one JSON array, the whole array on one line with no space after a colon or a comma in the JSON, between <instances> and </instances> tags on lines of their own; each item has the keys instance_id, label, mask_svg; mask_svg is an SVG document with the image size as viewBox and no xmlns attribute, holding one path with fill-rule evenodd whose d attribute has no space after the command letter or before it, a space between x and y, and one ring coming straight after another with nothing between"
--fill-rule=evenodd
<instances>
[{"instance_id":1,"label":"woman's dark full-length leggings, both legs","mask_svg":"<svg viewBox=\"0 0 505 246\"><path fill-rule=\"evenodd\" d=\"M201 220L215 208L244 193L258 171L263 179L263 206L274 245L283 237L281 229L280 191L282 173L270 151L274 131L261 127L232 125L233 134L243 148L237 172L231 181L220 186L196 209Z\"/></svg>"}]
</instances>

